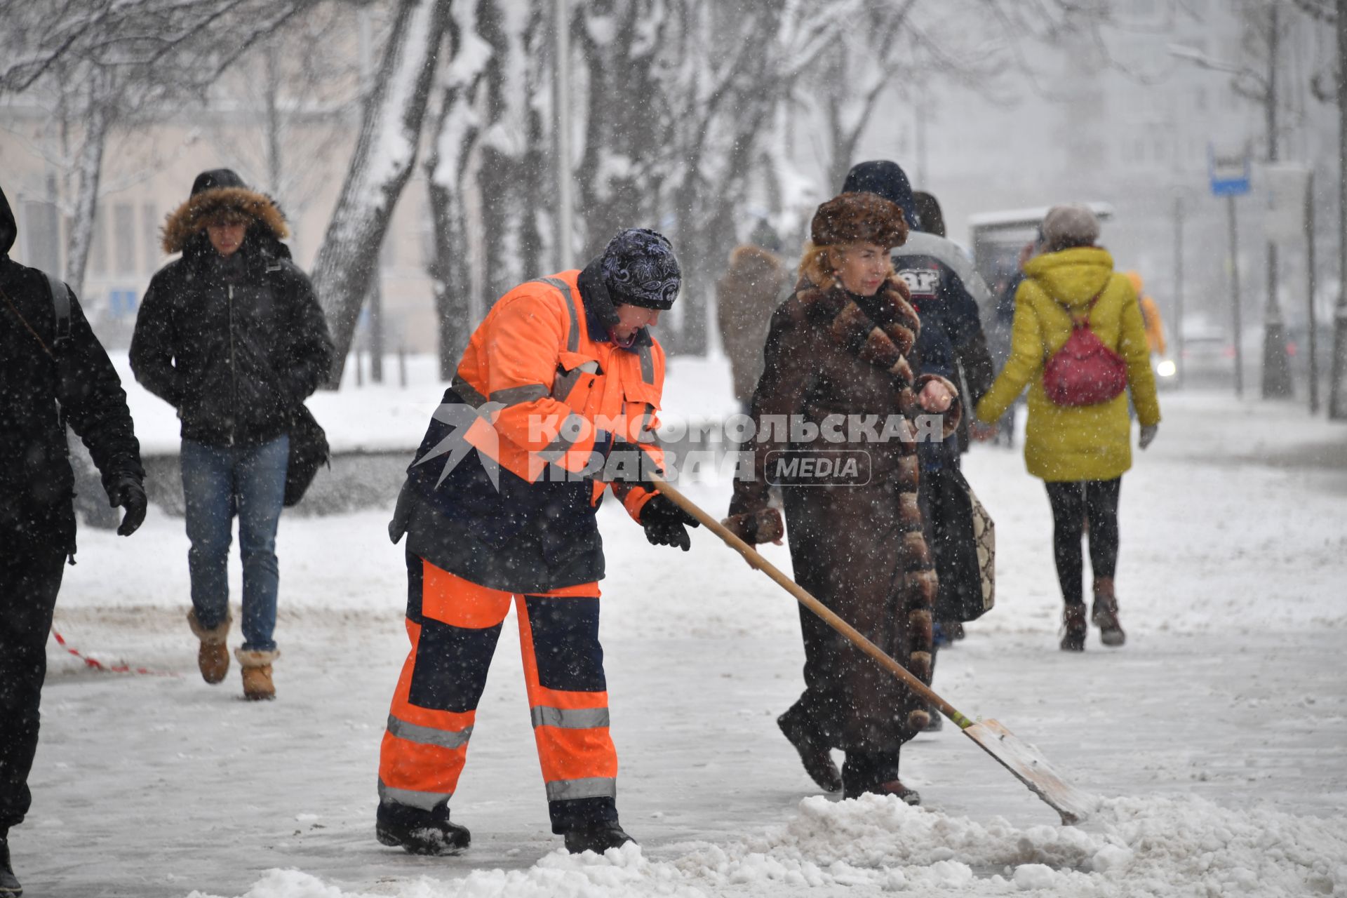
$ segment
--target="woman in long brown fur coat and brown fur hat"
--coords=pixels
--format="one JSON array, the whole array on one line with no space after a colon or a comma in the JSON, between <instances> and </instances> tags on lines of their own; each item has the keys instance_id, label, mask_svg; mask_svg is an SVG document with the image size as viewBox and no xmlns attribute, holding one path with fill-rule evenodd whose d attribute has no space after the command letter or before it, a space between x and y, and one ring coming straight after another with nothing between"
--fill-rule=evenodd
<instances>
[{"instance_id":1,"label":"woman in long brown fur coat and brown fur hat","mask_svg":"<svg viewBox=\"0 0 1347 898\"><path fill-rule=\"evenodd\" d=\"M920 323L889 261L905 238L902 211L874 194L819 206L799 284L772 318L752 405L754 474L735 483L726 525L749 543L780 541L768 487L781 483L795 579L929 683L936 576L915 439L948 436L959 409L950 381L913 374ZM768 438L781 416L789 439ZM898 750L928 723L925 703L803 607L800 625L806 689L779 724L806 770L849 798L916 804ZM831 746L846 753L841 775Z\"/></svg>"}]
</instances>

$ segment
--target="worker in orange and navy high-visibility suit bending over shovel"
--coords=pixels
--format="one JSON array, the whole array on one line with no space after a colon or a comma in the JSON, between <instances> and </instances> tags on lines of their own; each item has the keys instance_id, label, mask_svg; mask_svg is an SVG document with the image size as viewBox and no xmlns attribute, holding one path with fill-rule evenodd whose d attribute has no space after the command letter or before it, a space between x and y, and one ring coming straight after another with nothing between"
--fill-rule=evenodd
<instances>
[{"instance_id":1,"label":"worker in orange and navy high-visibility suit bending over shovel","mask_svg":"<svg viewBox=\"0 0 1347 898\"><path fill-rule=\"evenodd\" d=\"M572 852L632 841L617 817L617 751L598 641L607 487L652 544L687 551L696 521L649 481L664 350L649 335L678 296L669 241L621 232L583 271L520 284L473 334L397 499L407 534L411 653L379 763L376 835L454 854L450 823L513 600L552 832Z\"/></svg>"}]
</instances>

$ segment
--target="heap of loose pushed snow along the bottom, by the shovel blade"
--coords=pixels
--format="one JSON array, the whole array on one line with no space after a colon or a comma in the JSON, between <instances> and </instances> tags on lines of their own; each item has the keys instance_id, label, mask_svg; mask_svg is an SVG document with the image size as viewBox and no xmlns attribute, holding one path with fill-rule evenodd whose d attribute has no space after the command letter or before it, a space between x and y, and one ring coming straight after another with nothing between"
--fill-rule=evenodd
<instances>
[{"instance_id":1,"label":"heap of loose pushed snow along the bottom, by the shovel blade","mask_svg":"<svg viewBox=\"0 0 1347 898\"><path fill-rule=\"evenodd\" d=\"M1347 821L1230 810L1195 796L1106 800L1078 827L1017 829L909 808L892 796L806 798L789 823L729 845L652 859L554 852L523 871L380 883L403 898L780 895L859 886L960 895L1329 895L1347 891ZM665 854L661 851L660 854ZM242 898L358 898L272 870ZM193 893L189 898L207 898Z\"/></svg>"}]
</instances>

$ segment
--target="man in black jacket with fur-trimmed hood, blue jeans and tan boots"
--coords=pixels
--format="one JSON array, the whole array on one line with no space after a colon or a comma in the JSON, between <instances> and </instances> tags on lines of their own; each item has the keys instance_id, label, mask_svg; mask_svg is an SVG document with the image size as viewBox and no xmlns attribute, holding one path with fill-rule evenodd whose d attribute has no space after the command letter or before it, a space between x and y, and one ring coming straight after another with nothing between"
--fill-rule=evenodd
<instances>
[{"instance_id":1,"label":"man in black jacket with fur-trimmed hood, blue jeans and tan boots","mask_svg":"<svg viewBox=\"0 0 1347 898\"><path fill-rule=\"evenodd\" d=\"M280 242L288 236L271 198L228 168L202 172L164 223L163 249L182 258L150 281L131 341L136 380L182 419L187 622L201 640L206 683L229 672L229 544L238 514L244 644L236 656L247 699L276 696L276 526L290 428L331 359L308 277Z\"/></svg>"}]
</instances>

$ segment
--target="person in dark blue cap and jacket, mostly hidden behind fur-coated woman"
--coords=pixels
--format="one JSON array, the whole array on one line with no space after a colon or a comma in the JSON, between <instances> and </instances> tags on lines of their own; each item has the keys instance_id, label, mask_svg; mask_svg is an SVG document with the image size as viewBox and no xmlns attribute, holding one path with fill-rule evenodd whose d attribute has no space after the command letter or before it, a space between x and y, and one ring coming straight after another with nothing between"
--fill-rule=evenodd
<instances>
[{"instance_id":1,"label":"person in dark blue cap and jacket, mostly hidden behind fur-coated woman","mask_svg":"<svg viewBox=\"0 0 1347 898\"><path fill-rule=\"evenodd\" d=\"M975 403L991 386L995 369L987 351L987 339L982 333L982 318L978 302L966 287L977 284L979 292L990 298L986 284L974 272L973 264L956 244L944 238L944 217L931 194L920 194L925 199L925 215L919 217L917 195L908 184L908 176L893 162L863 162L847 174L843 190L867 190L897 203L909 225L924 233L911 234L908 241L893 250L893 268L908 285L912 307L921 318L921 350L924 370L948 377ZM936 233L939 232L939 233ZM948 522L951 513L946 497L964 489L959 469L960 451L968 446L966 421L960 421L959 434L943 443L921 443L917 458L921 460L921 514L927 522L927 539L936 557L940 572L940 595L935 602L935 650L952 638L963 635L966 613L958 602L956 584L967 574L955 564L942 564L946 559L959 556L959 551L943 544L947 540L964 539L971 543L973 532ZM940 539L936 540L936 534ZM966 584L966 592L974 592L974 584ZM977 587L981 595L981 586ZM932 664L935 654L932 653ZM939 730L943 718L931 715L931 728Z\"/></svg>"}]
</instances>

